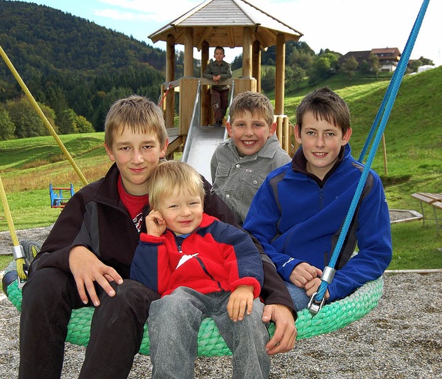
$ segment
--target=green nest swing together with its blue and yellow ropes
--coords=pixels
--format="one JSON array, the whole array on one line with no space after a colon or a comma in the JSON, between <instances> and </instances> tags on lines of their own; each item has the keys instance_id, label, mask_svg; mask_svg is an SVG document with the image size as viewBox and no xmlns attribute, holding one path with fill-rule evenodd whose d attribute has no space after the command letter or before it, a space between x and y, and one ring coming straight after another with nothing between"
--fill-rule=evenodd
<instances>
[{"instance_id":1,"label":"green nest swing together with its blue and yellow ropes","mask_svg":"<svg viewBox=\"0 0 442 379\"><path fill-rule=\"evenodd\" d=\"M343 241L347 234L349 224L351 223L352 218L354 216L354 211L356 209L358 200L361 196L361 192L363 190L363 186L365 184L365 180L369 172L369 167L372 164L374 155L376 154L376 149L381 141L385 125L387 123L392 106L394 104L394 100L398 93L399 86L401 85L401 80L405 73L407 62L410 59L412 48L414 46L414 42L416 41L417 34L419 33L419 28L421 27L423 16L425 15L425 11L427 9L429 1L430 0L423 1L421 10L419 11L419 15L416 18L416 22L412 28L410 37L407 40L407 44L405 45L403 55L401 56L401 59L398 62L396 71L394 71L392 80L383 98L381 107L379 108L378 113L376 114L376 118L372 124L372 129L369 132L369 136L367 137L365 146L363 147L363 150L361 152L361 156L358 159L360 162L363 161L369 142L372 140L372 137L374 136L374 131L378 129L376 131L376 136L374 137L372 147L369 151L369 156L367 158L367 163L365 164L365 168L361 175L361 180L358 183L358 187L356 188L352 204L350 205L349 212L343 223L343 228L340 232L338 242L336 243L332 259L329 262L329 266L326 267L327 272L331 272L334 270L334 264L336 264L336 259L338 258L340 249L343 246ZM2 49L0 49L0 51L3 52ZM15 69L12 68L12 64L8 65L10 66L13 72L16 72ZM17 80L21 84L26 95L28 95L28 98L30 98L32 104L38 107L37 102L35 102L35 100L32 98L32 95L30 95L28 89L21 81L21 79L19 80L19 78L17 78ZM40 112L37 111L37 113L42 115L41 111ZM44 115L42 115L41 117L44 119L45 122L46 118L44 118ZM379 127L377 128L380 119L381 122ZM50 124L47 120L45 124L47 124L47 126L50 127ZM60 144L61 141L57 140L57 142L59 142ZM68 157L70 158L70 156ZM71 163L73 163L72 160ZM73 167L76 166L73 164ZM39 246L38 244L32 243L31 241L26 241L26 242L23 241L24 247L19 245L14 229L11 228L11 225L13 224L12 221L10 222L9 220L10 211L8 203L6 201L6 195L4 194L3 184L1 183L1 178L0 178L0 190L2 194L3 207L5 208L5 214L7 215L8 223L10 223L11 237L12 237L12 242L14 243L14 248L20 247L22 249L21 252L23 252L22 255L21 254L17 255L15 253L15 259L17 261L16 265L17 272L19 272L18 276L20 278L23 278L24 258L28 257L28 260L32 259L32 256L35 256L35 252L38 250ZM15 262L12 262L12 264L15 264ZM8 268L6 269L6 274L3 277L3 287L4 290L6 290L6 294L8 295L8 298L10 299L12 304L14 304L17 307L17 309L20 311L21 288L19 288L19 279L17 275L15 275L15 273L13 272L14 270L15 268L12 265L8 266ZM323 275L323 277L321 278L322 281L320 288L318 289L318 293L314 298L315 302L320 303L323 301L325 291L327 290L327 285L331 282L332 276L333 275L324 277ZM9 279L5 281L7 277ZM348 297L345 297L344 299L340 299L336 302L326 304L322 308L319 306L315 312L312 312L314 313L314 315L312 315L309 309L305 309L298 312L298 319L296 320L296 329L298 329L297 339L302 340L305 338L314 337L316 335L330 333L332 331L336 331L337 329L343 328L344 326L347 326L351 322L359 320L361 317L367 315L369 311L371 311L373 308L375 308L378 305L378 301L381 298L382 293L383 293L383 279L382 277L380 277L374 281L367 282L366 284L361 286L361 288L358 288L357 290L354 291L354 293L352 293ZM92 321L93 312L94 308L90 306L80 308L72 312L72 315L70 317L70 322L68 324L68 335L66 337L67 342L70 342L72 344L84 345L84 346L88 344L90 337L90 323ZM140 353L142 354L149 353L149 340L148 340L147 327L148 326L146 324L144 329L144 337L140 348ZM271 324L271 326L269 327L269 332L271 333L271 335L273 335L274 330L275 326L274 324ZM224 340L220 336L220 333L217 327L215 326L215 322L213 322L213 320L210 318L203 320L201 324L200 332L198 333L198 354L206 356L231 355L231 351L229 350Z\"/></svg>"}]
</instances>

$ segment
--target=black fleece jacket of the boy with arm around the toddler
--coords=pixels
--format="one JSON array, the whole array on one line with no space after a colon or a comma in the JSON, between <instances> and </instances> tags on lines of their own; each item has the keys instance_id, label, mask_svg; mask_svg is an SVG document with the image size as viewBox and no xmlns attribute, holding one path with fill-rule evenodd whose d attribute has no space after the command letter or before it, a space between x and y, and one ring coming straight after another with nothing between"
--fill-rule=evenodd
<instances>
[{"instance_id":1,"label":"black fleece jacket of the boy with arm around the toddler","mask_svg":"<svg viewBox=\"0 0 442 379\"><path fill-rule=\"evenodd\" d=\"M128 278L140 235L119 198L119 170L113 165L104 178L90 183L74 194L62 210L41 251L32 261L30 272L53 267L70 272L69 252L75 246L85 246L106 265ZM204 212L225 223L238 226L229 207L215 194L204 179L206 196ZM150 211L144 207L143 216ZM239 228L239 226L238 226ZM142 223L142 232L146 225ZM296 311L289 292L273 263L259 247L264 266L264 286L260 296L265 304L282 304Z\"/></svg>"}]
</instances>

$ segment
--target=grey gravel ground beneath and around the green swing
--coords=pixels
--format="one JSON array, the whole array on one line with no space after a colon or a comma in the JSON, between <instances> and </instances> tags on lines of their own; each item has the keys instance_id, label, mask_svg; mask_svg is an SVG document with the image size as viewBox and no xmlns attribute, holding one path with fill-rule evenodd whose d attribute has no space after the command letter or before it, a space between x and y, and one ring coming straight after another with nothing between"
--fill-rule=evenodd
<instances>
[{"instance_id":1,"label":"grey gravel ground beneath and around the green swing","mask_svg":"<svg viewBox=\"0 0 442 379\"><path fill-rule=\"evenodd\" d=\"M37 234L32 239L39 241ZM442 378L442 272L384 275L384 280L377 308L343 329L300 340L289 353L274 356L270 378ZM17 378L18 333L19 312L1 293L0 378ZM84 351L66 344L62 378L77 378ZM200 357L195 377L230 378L230 361ZM129 378L150 375L148 356L137 355Z\"/></svg>"}]
</instances>

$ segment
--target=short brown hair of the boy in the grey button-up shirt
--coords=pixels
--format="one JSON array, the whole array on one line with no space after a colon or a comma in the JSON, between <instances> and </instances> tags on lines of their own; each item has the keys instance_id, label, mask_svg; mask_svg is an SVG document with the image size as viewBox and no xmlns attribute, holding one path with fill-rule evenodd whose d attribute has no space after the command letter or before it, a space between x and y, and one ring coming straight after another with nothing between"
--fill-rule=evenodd
<instances>
[{"instance_id":1,"label":"short brown hair of the boy in the grey button-up shirt","mask_svg":"<svg viewBox=\"0 0 442 379\"><path fill-rule=\"evenodd\" d=\"M245 111L262 116L269 127L273 124L273 106L269 98L262 93L245 91L237 95L229 107L229 122L233 124L233 120Z\"/></svg>"}]
</instances>

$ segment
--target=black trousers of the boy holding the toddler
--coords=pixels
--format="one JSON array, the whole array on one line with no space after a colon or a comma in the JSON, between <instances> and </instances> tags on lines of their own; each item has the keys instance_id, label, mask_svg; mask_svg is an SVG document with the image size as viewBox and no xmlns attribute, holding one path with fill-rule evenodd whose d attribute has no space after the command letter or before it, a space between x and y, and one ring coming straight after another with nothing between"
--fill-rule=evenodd
<instances>
[{"instance_id":1,"label":"black trousers of the boy holding the toddler","mask_svg":"<svg viewBox=\"0 0 442 379\"><path fill-rule=\"evenodd\" d=\"M131 279L111 285L114 297L96 286L100 305L79 378L127 378L140 350L148 309L160 298ZM57 268L32 272L21 303L19 378L60 378L70 313L82 306L70 273Z\"/></svg>"}]
</instances>

